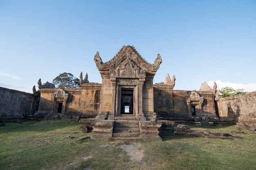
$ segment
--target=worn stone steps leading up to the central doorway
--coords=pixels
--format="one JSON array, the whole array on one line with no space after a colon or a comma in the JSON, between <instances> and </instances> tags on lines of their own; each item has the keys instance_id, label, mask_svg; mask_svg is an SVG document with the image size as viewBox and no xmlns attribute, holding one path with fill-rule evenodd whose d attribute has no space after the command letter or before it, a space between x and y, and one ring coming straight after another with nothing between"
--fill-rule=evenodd
<instances>
[{"instance_id":1,"label":"worn stone steps leading up to the central doorway","mask_svg":"<svg viewBox=\"0 0 256 170\"><path fill-rule=\"evenodd\" d=\"M134 117L115 117L113 137L139 137L139 120Z\"/></svg>"}]
</instances>

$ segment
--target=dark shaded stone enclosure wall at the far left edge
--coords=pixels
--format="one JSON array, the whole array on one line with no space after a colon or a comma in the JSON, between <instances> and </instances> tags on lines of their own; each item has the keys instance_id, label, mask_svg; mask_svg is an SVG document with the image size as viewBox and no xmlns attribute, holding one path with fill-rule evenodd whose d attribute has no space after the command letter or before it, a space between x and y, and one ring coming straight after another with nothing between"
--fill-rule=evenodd
<instances>
[{"instance_id":1,"label":"dark shaded stone enclosure wall at the far left edge","mask_svg":"<svg viewBox=\"0 0 256 170\"><path fill-rule=\"evenodd\" d=\"M34 94L0 87L0 118L34 114L38 107L38 100L39 96Z\"/></svg>"}]
</instances>

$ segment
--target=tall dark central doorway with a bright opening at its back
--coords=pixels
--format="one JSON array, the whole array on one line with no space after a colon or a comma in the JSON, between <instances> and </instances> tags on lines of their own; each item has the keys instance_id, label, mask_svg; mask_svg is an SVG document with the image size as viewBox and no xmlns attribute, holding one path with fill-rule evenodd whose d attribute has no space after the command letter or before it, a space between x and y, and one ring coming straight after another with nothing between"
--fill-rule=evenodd
<instances>
[{"instance_id":1,"label":"tall dark central doorway with a bright opening at its back","mask_svg":"<svg viewBox=\"0 0 256 170\"><path fill-rule=\"evenodd\" d=\"M133 89L121 89L121 114L133 114Z\"/></svg>"}]
</instances>

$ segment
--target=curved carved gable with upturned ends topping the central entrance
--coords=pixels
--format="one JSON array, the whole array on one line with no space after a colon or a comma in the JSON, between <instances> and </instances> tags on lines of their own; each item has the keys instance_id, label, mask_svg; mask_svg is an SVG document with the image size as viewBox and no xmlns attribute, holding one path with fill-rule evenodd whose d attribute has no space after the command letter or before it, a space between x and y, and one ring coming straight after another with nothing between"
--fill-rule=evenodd
<instances>
[{"instance_id":1,"label":"curved carved gable with upturned ends topping the central entrance","mask_svg":"<svg viewBox=\"0 0 256 170\"><path fill-rule=\"evenodd\" d=\"M162 63L160 54L157 55L157 58L153 64L148 63L144 58L141 57L141 55L133 46L123 46L121 50L119 50L119 52L115 55L115 57L106 63L102 62L101 57L99 56L99 52L97 52L94 56L94 61L99 70L112 70L112 72L113 70L115 71L117 67L127 59L141 68L141 70L145 71L156 72L159 68L159 65Z\"/></svg>"}]
</instances>

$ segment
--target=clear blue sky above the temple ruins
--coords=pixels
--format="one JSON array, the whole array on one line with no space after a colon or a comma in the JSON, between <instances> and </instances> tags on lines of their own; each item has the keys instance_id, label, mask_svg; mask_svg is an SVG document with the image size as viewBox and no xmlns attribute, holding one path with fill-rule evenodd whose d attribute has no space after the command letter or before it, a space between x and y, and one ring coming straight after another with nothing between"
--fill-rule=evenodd
<instances>
[{"instance_id":1,"label":"clear blue sky above the temple ruins","mask_svg":"<svg viewBox=\"0 0 256 170\"><path fill-rule=\"evenodd\" d=\"M1 87L31 92L81 71L101 83L94 54L106 62L124 44L150 63L161 54L155 83L169 73L175 89L219 80L256 91L255 0L0 0Z\"/></svg>"}]
</instances>

